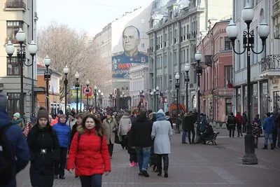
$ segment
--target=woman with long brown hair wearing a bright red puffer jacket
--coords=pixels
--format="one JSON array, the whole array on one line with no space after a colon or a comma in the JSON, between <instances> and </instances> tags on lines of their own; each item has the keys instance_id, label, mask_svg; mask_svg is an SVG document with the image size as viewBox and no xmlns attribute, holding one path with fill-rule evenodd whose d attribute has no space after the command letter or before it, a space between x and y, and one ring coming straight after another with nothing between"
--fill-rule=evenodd
<instances>
[{"instance_id":1,"label":"woman with long brown hair wearing a bright red puffer jacket","mask_svg":"<svg viewBox=\"0 0 280 187\"><path fill-rule=\"evenodd\" d=\"M102 174L111 172L104 128L91 114L83 118L71 142L67 169L72 173L74 168L76 176L80 176L82 187L101 187Z\"/></svg>"}]
</instances>

